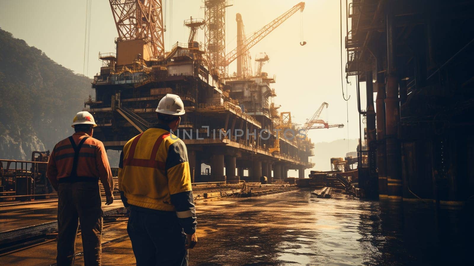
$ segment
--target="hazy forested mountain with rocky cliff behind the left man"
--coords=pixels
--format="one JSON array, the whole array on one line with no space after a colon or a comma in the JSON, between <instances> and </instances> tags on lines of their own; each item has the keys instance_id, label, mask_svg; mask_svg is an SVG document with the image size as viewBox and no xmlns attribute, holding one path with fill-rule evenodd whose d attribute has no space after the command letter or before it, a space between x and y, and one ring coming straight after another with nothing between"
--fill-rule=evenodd
<instances>
[{"instance_id":1,"label":"hazy forested mountain with rocky cliff behind the left man","mask_svg":"<svg viewBox=\"0 0 474 266\"><path fill-rule=\"evenodd\" d=\"M0 158L30 160L73 132L91 79L0 28Z\"/></svg>"}]
</instances>

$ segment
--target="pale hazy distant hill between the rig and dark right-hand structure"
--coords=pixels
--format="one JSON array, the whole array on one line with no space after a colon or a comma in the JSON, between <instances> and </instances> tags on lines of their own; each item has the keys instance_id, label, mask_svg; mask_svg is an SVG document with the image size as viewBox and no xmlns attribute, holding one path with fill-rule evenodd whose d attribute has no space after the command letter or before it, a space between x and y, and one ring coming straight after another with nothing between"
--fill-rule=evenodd
<instances>
[{"instance_id":1,"label":"pale hazy distant hill between the rig and dark right-hand structure","mask_svg":"<svg viewBox=\"0 0 474 266\"><path fill-rule=\"evenodd\" d=\"M349 139L349 152L356 151L358 139ZM331 170L329 159L331 157L345 157L347 153L347 139L337 139L331 142L318 142L314 144L314 156L310 157L316 163L312 170Z\"/></svg>"}]
</instances>

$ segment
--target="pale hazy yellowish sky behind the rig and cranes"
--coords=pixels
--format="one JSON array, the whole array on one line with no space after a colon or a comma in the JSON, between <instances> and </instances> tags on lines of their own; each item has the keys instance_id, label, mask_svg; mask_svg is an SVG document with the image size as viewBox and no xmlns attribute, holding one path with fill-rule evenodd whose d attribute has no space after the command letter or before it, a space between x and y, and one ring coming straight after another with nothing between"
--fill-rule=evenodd
<instances>
[{"instance_id":1,"label":"pale hazy yellowish sky behind the rig and cranes","mask_svg":"<svg viewBox=\"0 0 474 266\"><path fill-rule=\"evenodd\" d=\"M229 4L233 6L227 9L227 51L237 46L236 13L242 15L246 34L249 35L298 2L230 0ZM346 1L343 2L345 4ZM170 44L176 41L187 42L189 30L183 26L183 20L190 16L204 18L204 9L201 8L201 0L163 0L163 3L167 28L164 42L165 49L169 50ZM41 49L59 64L76 73L83 73L85 6L85 0L1 0L0 28ZM100 70L99 52L115 52L114 38L118 36L109 1L93 0L91 9L89 71L84 73L90 77ZM250 49L252 59L259 52L270 56L270 62L263 71L269 75L276 74L276 83L272 85L277 93L274 101L282 106L280 111L292 112L293 122L304 123L323 101L327 101L329 108L323 111L322 119L346 125L345 128L311 130L309 137L313 142L347 138L346 101L342 98L340 77L339 0L306 0L302 18L306 46L300 46L301 14L298 12ZM343 6L344 36L345 28ZM203 30L198 32L198 40L204 42ZM344 51L344 64L345 56ZM235 69L234 61L229 73ZM348 94L351 95L348 101L348 136L358 138L355 78L350 80L353 83L348 85ZM365 83L361 83L361 88L362 95L365 95ZM364 96L362 108L365 109ZM351 147L351 150L355 149Z\"/></svg>"}]
</instances>

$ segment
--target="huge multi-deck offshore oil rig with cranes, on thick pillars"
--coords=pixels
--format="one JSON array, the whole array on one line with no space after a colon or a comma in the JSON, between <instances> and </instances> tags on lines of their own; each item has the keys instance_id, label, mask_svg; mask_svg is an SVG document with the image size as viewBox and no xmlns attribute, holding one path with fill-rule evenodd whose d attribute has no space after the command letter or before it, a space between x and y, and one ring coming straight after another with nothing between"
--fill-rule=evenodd
<instances>
[{"instance_id":1,"label":"huge multi-deck offshore oil rig with cranes, on thick pillars","mask_svg":"<svg viewBox=\"0 0 474 266\"><path fill-rule=\"evenodd\" d=\"M164 50L160 0L110 1L110 6L118 31L117 51L99 54L103 64L92 83L95 95L84 102L84 110L98 121L94 137L107 149L121 150L128 139L153 125L157 102L174 93L185 103L186 115L177 133L188 147L193 182L238 183L262 176L271 182L286 178L289 169L304 178L304 169L313 166L308 157L314 145L288 133L297 128L291 113L279 113L272 101L275 76L262 72L268 56L256 59L254 74L249 54L273 29L302 12L304 2L250 37L237 13L237 47L228 54L227 0L205 0L205 18L184 21L190 28L188 43L175 43L169 52ZM198 29L204 29L204 44L196 41ZM229 76L228 65L234 60L237 73ZM276 129L291 130L283 136ZM210 165L210 171L201 171L202 163Z\"/></svg>"}]
</instances>

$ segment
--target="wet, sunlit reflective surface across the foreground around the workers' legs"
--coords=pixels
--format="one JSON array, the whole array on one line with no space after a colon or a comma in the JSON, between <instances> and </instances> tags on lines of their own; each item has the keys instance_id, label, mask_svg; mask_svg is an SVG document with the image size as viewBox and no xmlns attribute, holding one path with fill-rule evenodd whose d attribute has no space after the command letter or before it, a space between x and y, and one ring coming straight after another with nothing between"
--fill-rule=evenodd
<instances>
[{"instance_id":1,"label":"wet, sunlit reflective surface across the foreground around the workers' legs","mask_svg":"<svg viewBox=\"0 0 474 266\"><path fill-rule=\"evenodd\" d=\"M190 265L471 264L471 211L333 196L293 191L198 202L199 243ZM103 265L134 265L125 222L105 228L103 242ZM0 265L54 264L55 244L1 257ZM83 265L81 256L75 265Z\"/></svg>"}]
</instances>

